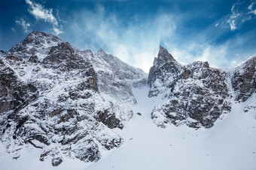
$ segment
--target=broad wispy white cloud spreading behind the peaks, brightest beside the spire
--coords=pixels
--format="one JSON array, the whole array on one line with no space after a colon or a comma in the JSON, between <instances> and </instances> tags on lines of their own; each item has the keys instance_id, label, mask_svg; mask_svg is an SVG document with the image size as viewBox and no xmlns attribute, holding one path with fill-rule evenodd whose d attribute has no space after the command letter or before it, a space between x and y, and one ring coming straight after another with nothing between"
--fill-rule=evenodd
<instances>
[{"instance_id":1,"label":"broad wispy white cloud spreading behind the peaks, brightest beside the spire","mask_svg":"<svg viewBox=\"0 0 256 170\"><path fill-rule=\"evenodd\" d=\"M96 11L72 13L68 19L69 28L66 29L72 33L69 41L78 48L92 49L94 52L102 48L145 72L149 71L154 57L157 57L160 44L181 64L200 60L209 61L212 67L229 68L236 67L236 64L251 55L251 51L246 54L246 50L239 51L251 33L215 44L215 40L229 29L227 16L193 35L190 32L181 34L181 25L191 15L193 13L175 13L174 16L172 13L156 11L154 16L146 19L134 14L127 21L114 12L105 12L105 7L99 4ZM233 25L233 29L236 26ZM239 57L236 57L236 53Z\"/></svg>"}]
</instances>

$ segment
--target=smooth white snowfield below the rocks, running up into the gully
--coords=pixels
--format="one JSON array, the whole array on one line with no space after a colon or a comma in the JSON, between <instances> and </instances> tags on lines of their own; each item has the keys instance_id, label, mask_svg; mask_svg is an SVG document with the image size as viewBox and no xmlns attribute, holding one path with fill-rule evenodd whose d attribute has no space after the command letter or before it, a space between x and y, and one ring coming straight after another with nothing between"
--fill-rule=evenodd
<instances>
[{"instance_id":1,"label":"smooth white snowfield below the rocks, running up into the gully","mask_svg":"<svg viewBox=\"0 0 256 170\"><path fill-rule=\"evenodd\" d=\"M133 89L133 94L138 102L130 106L133 118L123 130L116 130L124 144L111 151L103 150L98 162L83 163L63 157L63 162L53 167L49 159L38 160L41 151L35 148L26 148L26 154L12 160L14 155L4 154L5 148L0 145L0 169L256 169L256 109L243 112L245 106L256 106L255 94L245 103L233 103L232 111L212 128L200 130L185 125L157 127L151 120L151 111L164 102L162 97L148 98L147 87Z\"/></svg>"}]
</instances>

